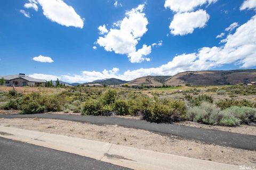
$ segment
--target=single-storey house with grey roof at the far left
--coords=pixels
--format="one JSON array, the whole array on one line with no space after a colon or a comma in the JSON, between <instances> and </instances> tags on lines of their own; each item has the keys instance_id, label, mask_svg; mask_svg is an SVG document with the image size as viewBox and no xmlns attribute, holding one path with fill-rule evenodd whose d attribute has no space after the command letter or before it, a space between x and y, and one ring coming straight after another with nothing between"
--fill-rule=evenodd
<instances>
[{"instance_id":1,"label":"single-storey house with grey roof at the far left","mask_svg":"<svg viewBox=\"0 0 256 170\"><path fill-rule=\"evenodd\" d=\"M21 86L30 86L30 87L45 87L46 80L43 79L34 79L31 77L28 77L27 75L20 73L15 75L6 75L6 76L0 76L0 78L4 78L4 85L5 86L15 86L15 87L21 87Z\"/></svg>"}]
</instances>

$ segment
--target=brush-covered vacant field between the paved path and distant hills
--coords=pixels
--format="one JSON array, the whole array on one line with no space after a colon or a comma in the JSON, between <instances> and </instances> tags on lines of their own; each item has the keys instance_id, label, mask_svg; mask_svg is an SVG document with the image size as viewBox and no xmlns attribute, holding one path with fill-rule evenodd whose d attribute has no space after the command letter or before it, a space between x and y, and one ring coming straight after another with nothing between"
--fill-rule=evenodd
<instances>
[{"instance_id":1,"label":"brush-covered vacant field between the paved path and distant hills","mask_svg":"<svg viewBox=\"0 0 256 170\"><path fill-rule=\"evenodd\" d=\"M141 116L157 123L256 125L256 86L1 88L0 109L22 114L62 111Z\"/></svg>"}]
</instances>

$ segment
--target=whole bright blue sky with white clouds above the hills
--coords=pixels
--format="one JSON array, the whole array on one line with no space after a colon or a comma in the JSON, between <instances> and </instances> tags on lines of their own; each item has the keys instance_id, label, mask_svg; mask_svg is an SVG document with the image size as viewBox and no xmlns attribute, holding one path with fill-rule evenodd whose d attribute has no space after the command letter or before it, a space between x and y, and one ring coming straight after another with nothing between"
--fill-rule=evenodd
<instances>
[{"instance_id":1,"label":"whole bright blue sky with white clouds above the hills","mask_svg":"<svg viewBox=\"0 0 256 170\"><path fill-rule=\"evenodd\" d=\"M89 82L255 69L255 8L255 0L3 1L0 74Z\"/></svg>"}]
</instances>

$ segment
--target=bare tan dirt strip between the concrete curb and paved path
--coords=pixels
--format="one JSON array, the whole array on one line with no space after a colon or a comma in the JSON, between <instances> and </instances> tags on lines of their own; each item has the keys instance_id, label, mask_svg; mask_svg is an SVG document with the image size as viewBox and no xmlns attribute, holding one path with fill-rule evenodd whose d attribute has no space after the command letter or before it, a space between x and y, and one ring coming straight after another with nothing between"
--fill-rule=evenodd
<instances>
[{"instance_id":1,"label":"bare tan dirt strip between the concrete curb and paved path","mask_svg":"<svg viewBox=\"0 0 256 170\"><path fill-rule=\"evenodd\" d=\"M47 133L55 133L117 145L165 152L168 154L212 160L233 165L256 165L256 152L209 145L145 130L123 128L117 125L95 125L41 118L0 118L0 124Z\"/></svg>"}]
</instances>

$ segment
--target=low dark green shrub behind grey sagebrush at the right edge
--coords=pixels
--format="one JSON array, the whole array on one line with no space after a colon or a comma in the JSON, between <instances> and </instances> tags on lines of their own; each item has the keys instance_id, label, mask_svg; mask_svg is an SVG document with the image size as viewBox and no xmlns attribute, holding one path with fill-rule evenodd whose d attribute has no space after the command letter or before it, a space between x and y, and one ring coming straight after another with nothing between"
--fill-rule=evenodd
<instances>
[{"instance_id":1,"label":"low dark green shrub behind grey sagebrush at the right edge","mask_svg":"<svg viewBox=\"0 0 256 170\"><path fill-rule=\"evenodd\" d=\"M222 110L229 108L231 106L238 106L238 107L256 107L256 103L243 99L243 100L235 100L235 99L221 99L219 100L216 105L220 107Z\"/></svg>"}]
</instances>

